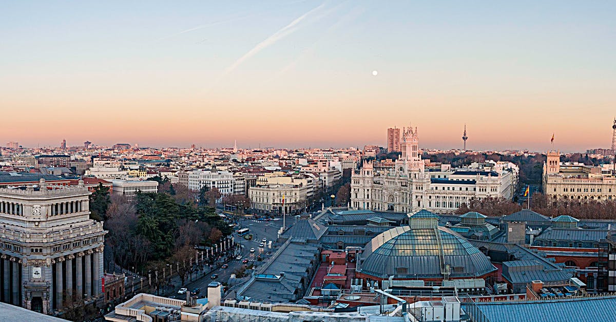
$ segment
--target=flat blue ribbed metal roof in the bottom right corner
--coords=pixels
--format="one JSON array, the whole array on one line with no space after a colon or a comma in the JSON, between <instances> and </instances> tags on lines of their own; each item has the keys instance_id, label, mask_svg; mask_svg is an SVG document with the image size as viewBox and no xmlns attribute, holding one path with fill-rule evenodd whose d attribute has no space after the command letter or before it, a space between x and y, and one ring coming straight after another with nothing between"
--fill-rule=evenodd
<instances>
[{"instance_id":1,"label":"flat blue ribbed metal roof in the bottom right corner","mask_svg":"<svg viewBox=\"0 0 616 322\"><path fill-rule=\"evenodd\" d=\"M469 304L463 304L468 311ZM614 321L616 297L476 303L490 322Z\"/></svg>"}]
</instances>

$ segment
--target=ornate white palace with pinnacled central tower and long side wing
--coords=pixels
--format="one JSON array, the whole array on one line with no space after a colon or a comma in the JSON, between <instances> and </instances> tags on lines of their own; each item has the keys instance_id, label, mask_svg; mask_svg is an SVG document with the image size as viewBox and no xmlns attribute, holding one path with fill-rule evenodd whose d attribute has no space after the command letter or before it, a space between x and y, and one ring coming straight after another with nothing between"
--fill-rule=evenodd
<instances>
[{"instance_id":1,"label":"ornate white palace with pinnacled central tower and long side wing","mask_svg":"<svg viewBox=\"0 0 616 322\"><path fill-rule=\"evenodd\" d=\"M402 156L389 171L375 171L363 162L351 178L351 207L391 212L428 209L453 213L473 198L511 199L517 175L514 171L426 171L421 160L417 129L403 131Z\"/></svg>"}]
</instances>

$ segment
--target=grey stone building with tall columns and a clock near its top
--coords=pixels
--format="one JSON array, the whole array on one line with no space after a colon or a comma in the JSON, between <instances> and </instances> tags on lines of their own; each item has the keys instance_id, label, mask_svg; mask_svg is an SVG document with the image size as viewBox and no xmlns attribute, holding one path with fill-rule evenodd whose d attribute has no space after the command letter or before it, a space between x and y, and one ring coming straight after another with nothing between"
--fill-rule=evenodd
<instances>
[{"instance_id":1,"label":"grey stone building with tall columns and a clock near its top","mask_svg":"<svg viewBox=\"0 0 616 322\"><path fill-rule=\"evenodd\" d=\"M103 224L83 182L0 189L0 300L49 314L101 292Z\"/></svg>"}]
</instances>

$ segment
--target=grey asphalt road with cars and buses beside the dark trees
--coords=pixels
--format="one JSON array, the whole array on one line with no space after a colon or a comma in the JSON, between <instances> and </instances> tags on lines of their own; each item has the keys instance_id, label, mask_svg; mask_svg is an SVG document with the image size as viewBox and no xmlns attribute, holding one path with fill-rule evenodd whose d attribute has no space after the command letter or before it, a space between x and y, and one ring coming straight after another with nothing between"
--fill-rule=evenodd
<instances>
[{"instance_id":1,"label":"grey asphalt road with cars and buses beside the dark trees","mask_svg":"<svg viewBox=\"0 0 616 322\"><path fill-rule=\"evenodd\" d=\"M291 217L287 217L287 225L290 223L289 220L293 220L290 219ZM278 219L278 218L277 218ZM261 254L262 258L264 258L264 260L269 257L271 254L267 254L268 252L273 253L274 252L274 248L275 246L277 246L277 244L275 243L277 237L278 237L278 229L280 229L280 227L282 226L282 220L278 219L278 220L273 220L273 221L258 221L258 220L253 220L253 219L247 219L247 218L240 218L238 220L238 226L236 227L236 231L237 229L240 228L249 228L250 229L250 233L253 234L253 240L246 240L244 239L244 237L240 237L237 236L237 234L233 234L233 240L235 242L238 242L241 244L241 258L248 258L249 262L248 263L253 263L256 266L259 266L261 263L263 262L259 262L256 260L257 255ZM267 239L267 242L264 246L264 248L259 248L259 243L261 242L262 238L265 237ZM269 241L272 241L272 245L270 246ZM250 249L254 248L254 253L250 252ZM188 281L186 283L185 286L179 286L176 285L176 289L174 289L174 291L172 292L172 294L169 295L174 295L177 298L183 298L184 295L181 294L177 294L177 291L179 291L180 287L187 287L189 291L192 291L195 288L200 288L201 292L200 292L200 296L206 296L207 295L207 287L208 284L211 283L212 281L219 281L221 283L227 283L227 281L229 280L230 275L238 270L242 265L246 265L241 263L241 260L236 260L233 259L232 261L230 261L229 263L229 267L226 269L222 269L222 268L217 268L209 273L207 273L207 275L201 279L198 279L195 281L195 278L197 278L195 275L193 275L193 281ZM213 274L217 274L218 277L216 279L211 279L211 276Z\"/></svg>"}]
</instances>

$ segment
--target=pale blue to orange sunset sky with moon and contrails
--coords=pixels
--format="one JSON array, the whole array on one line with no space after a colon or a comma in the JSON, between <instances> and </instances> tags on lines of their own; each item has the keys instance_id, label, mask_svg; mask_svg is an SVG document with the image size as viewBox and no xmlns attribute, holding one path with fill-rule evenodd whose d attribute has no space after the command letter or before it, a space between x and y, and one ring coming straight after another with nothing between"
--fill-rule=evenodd
<instances>
[{"instance_id":1,"label":"pale blue to orange sunset sky with moon and contrails","mask_svg":"<svg viewBox=\"0 0 616 322\"><path fill-rule=\"evenodd\" d=\"M0 142L609 148L614 1L2 1ZM374 75L376 71L376 76Z\"/></svg>"}]
</instances>

